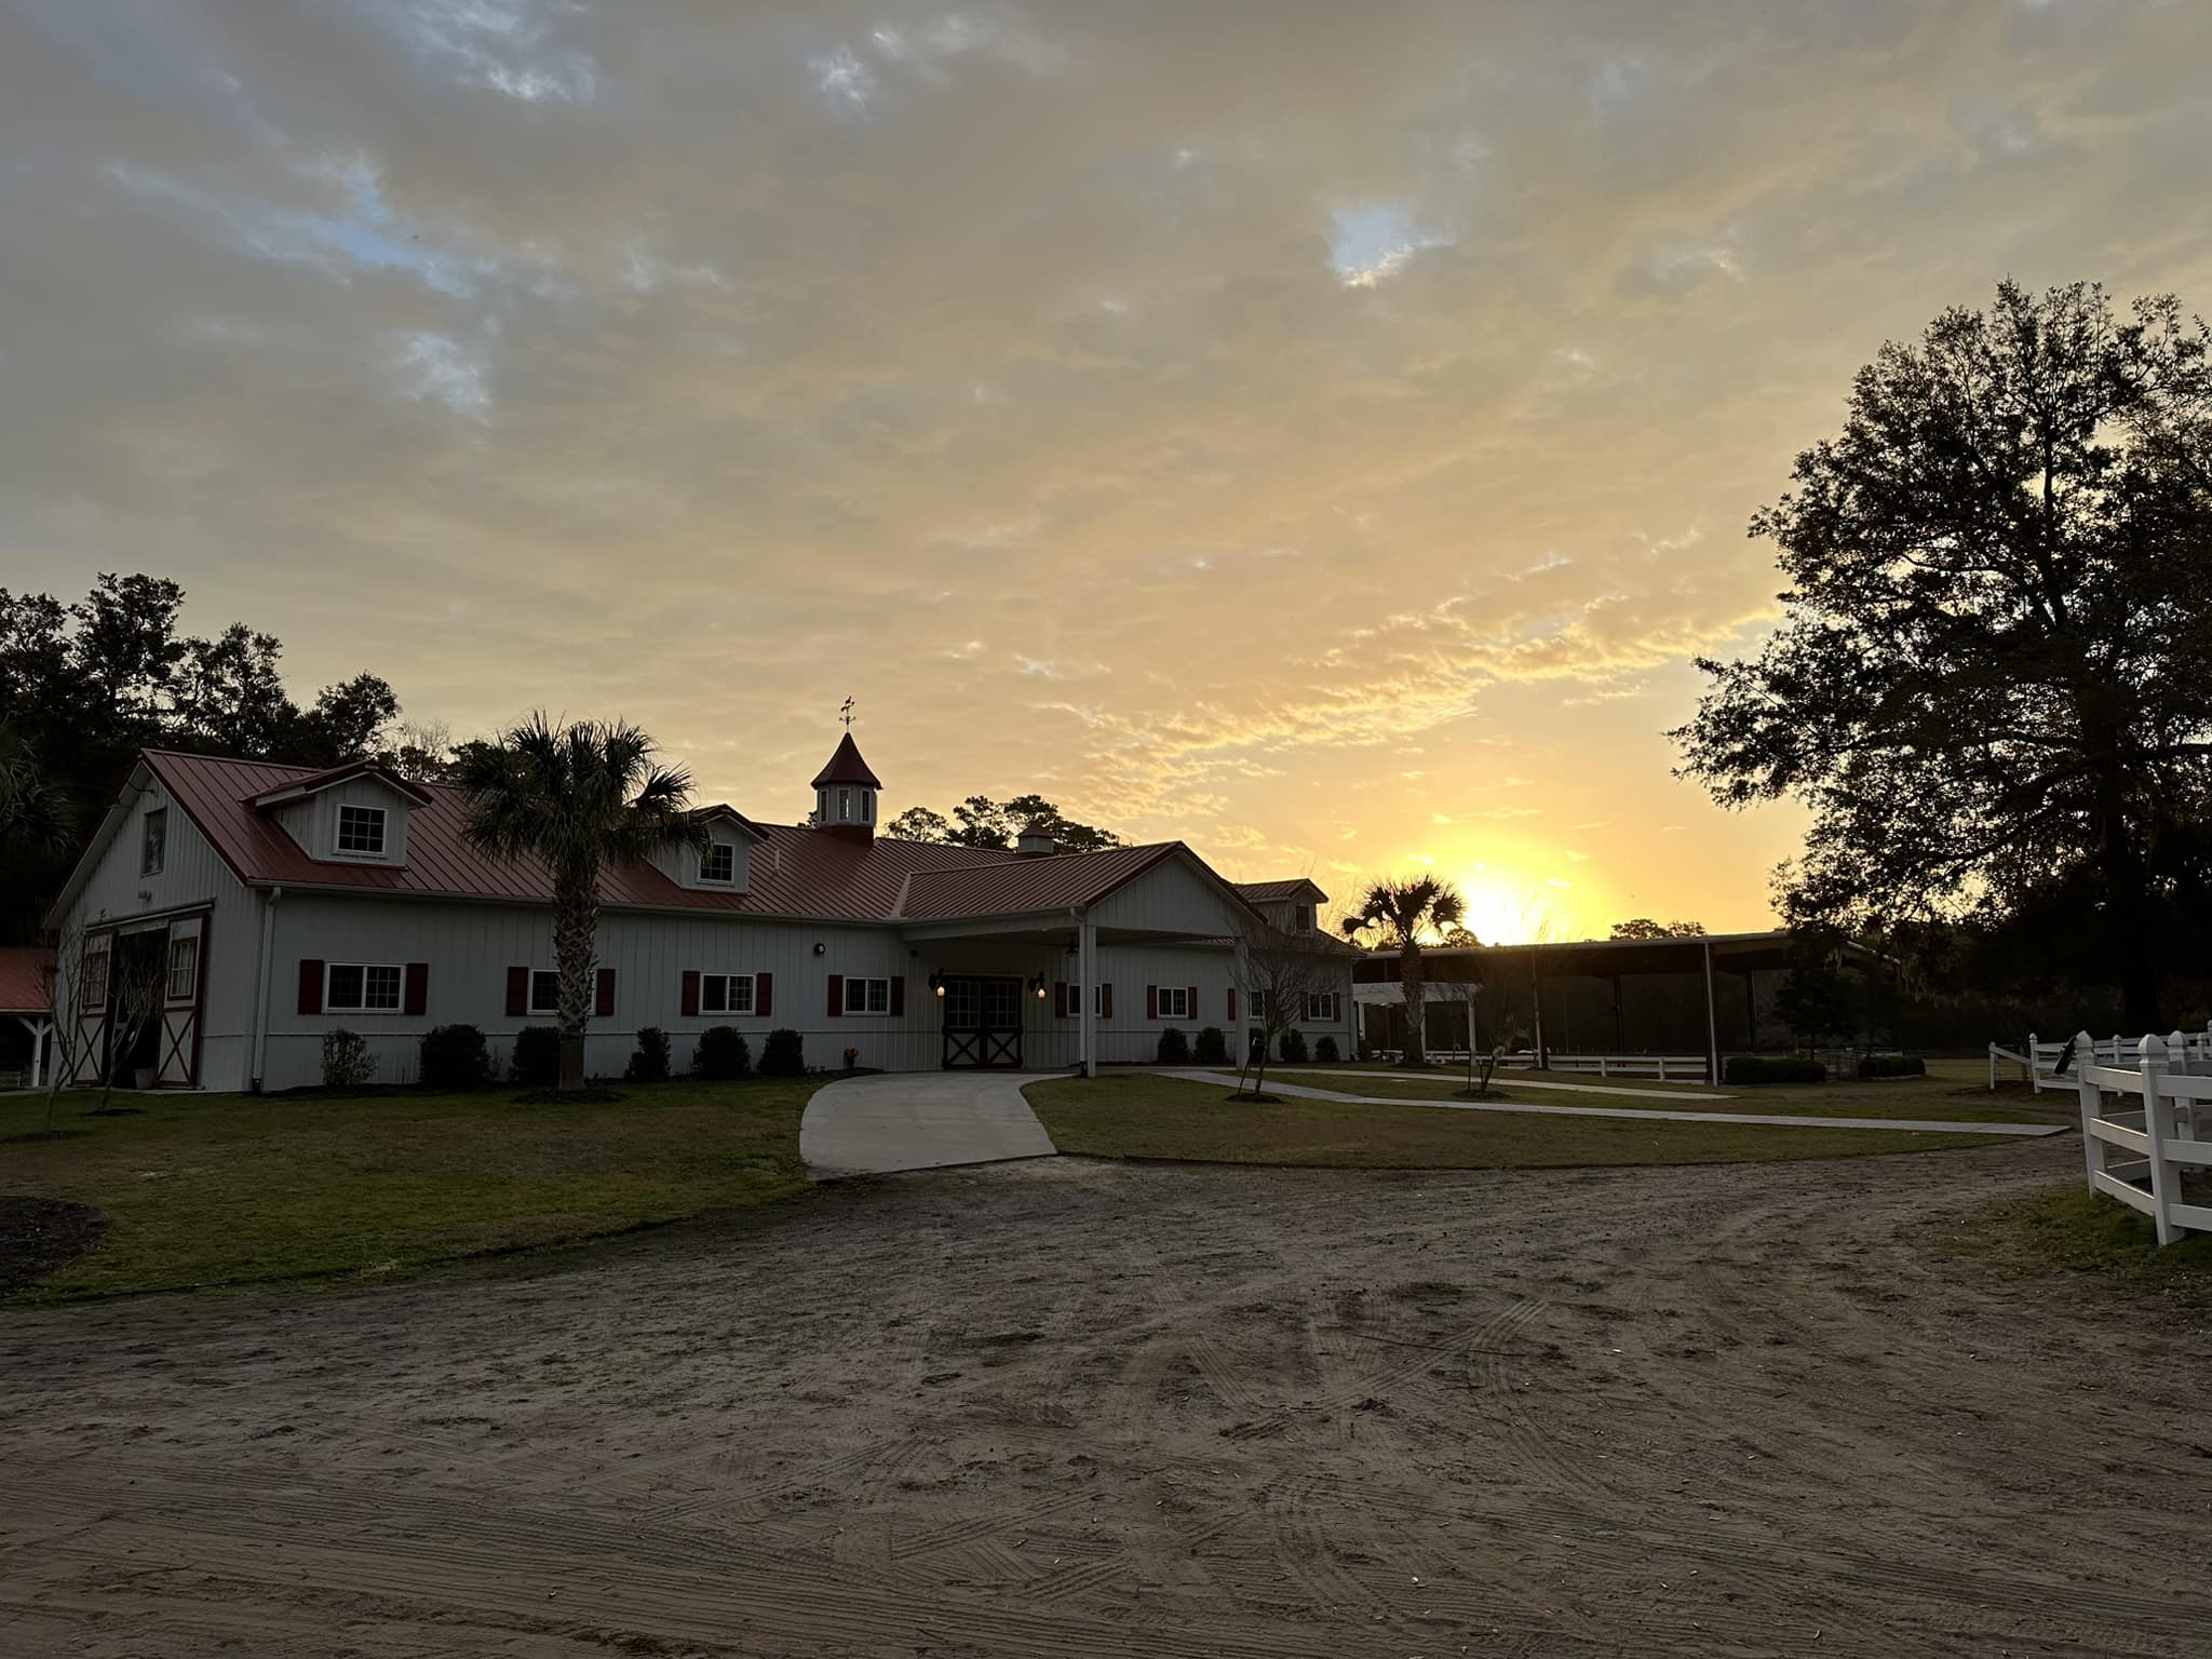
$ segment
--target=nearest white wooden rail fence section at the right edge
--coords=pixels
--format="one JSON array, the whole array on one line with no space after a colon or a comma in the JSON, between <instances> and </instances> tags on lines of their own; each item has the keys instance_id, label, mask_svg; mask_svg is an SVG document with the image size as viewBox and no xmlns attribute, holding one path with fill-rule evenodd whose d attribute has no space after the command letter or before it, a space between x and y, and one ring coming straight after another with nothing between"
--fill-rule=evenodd
<instances>
[{"instance_id":1,"label":"nearest white wooden rail fence section at the right edge","mask_svg":"<svg viewBox=\"0 0 2212 1659\"><path fill-rule=\"evenodd\" d=\"M2075 1042L2093 1046L2086 1031ZM2139 1037L2135 1051L2135 1066L2075 1066L2088 1190L2148 1214L2161 1245L2212 1232L2212 1206L2181 1194L2183 1170L2212 1170L2212 1044L2174 1031Z\"/></svg>"}]
</instances>

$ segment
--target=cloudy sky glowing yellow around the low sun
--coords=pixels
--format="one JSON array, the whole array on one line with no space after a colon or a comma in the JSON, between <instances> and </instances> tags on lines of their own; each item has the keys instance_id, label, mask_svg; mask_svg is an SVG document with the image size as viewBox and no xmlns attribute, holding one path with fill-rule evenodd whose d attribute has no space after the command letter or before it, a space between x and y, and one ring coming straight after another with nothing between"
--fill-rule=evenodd
<instances>
[{"instance_id":1,"label":"cloudy sky glowing yellow around the low sun","mask_svg":"<svg viewBox=\"0 0 2212 1659\"><path fill-rule=\"evenodd\" d=\"M2015 274L2212 310L2199 0L0 0L0 584L799 816L1765 925L1745 518Z\"/></svg>"}]
</instances>

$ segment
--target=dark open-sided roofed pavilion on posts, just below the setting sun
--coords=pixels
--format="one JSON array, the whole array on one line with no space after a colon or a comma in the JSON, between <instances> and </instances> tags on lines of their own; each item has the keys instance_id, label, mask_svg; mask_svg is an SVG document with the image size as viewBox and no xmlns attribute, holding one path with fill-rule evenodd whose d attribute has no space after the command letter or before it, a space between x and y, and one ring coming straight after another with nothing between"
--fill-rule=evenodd
<instances>
[{"instance_id":1,"label":"dark open-sided roofed pavilion on posts, just below the setting sun","mask_svg":"<svg viewBox=\"0 0 2212 1659\"><path fill-rule=\"evenodd\" d=\"M1847 953L1876 960L1863 945L1845 945ZM1535 1000L1537 1064L1544 1062L1544 980L1606 980L1613 987L1613 1042L1624 1048L1621 980L1646 973L1692 973L1705 991L1705 1060L1719 1079L1719 1011L1714 980L1741 973L1750 1009L1750 1040L1759 1044L1754 973L1776 973L1790 967L1790 933L1694 933L1683 938L1593 938L1544 945L1436 945L1420 953L1425 1002L1458 1002L1467 984L1526 984ZM1354 967L1354 995L1365 1004L1389 1004L1398 995L1398 953L1371 951Z\"/></svg>"}]
</instances>

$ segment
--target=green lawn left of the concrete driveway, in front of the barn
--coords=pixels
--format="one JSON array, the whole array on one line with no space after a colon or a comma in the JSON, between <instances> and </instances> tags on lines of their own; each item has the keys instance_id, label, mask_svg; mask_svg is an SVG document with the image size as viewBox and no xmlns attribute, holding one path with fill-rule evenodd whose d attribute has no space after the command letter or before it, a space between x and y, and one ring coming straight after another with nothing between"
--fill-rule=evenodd
<instances>
[{"instance_id":1,"label":"green lawn left of the concrete driveway, in front of the barn","mask_svg":"<svg viewBox=\"0 0 2212 1659\"><path fill-rule=\"evenodd\" d=\"M378 1281L785 1199L807 1188L816 1082L630 1086L604 1106L480 1095L131 1095L27 1141L44 1104L0 1102L0 1194L104 1210L97 1250L29 1292L66 1301L268 1279Z\"/></svg>"}]
</instances>

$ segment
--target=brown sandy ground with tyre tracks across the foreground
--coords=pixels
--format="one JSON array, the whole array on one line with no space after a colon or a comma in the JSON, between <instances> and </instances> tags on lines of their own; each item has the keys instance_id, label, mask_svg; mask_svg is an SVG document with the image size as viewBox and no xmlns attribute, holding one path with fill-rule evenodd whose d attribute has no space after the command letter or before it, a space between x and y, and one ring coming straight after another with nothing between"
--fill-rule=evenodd
<instances>
[{"instance_id":1,"label":"brown sandy ground with tyre tracks across the foreground","mask_svg":"<svg viewBox=\"0 0 2212 1659\"><path fill-rule=\"evenodd\" d=\"M1913 1241L2075 1159L1062 1159L0 1312L0 1650L2203 1655L2212 1338Z\"/></svg>"}]
</instances>

